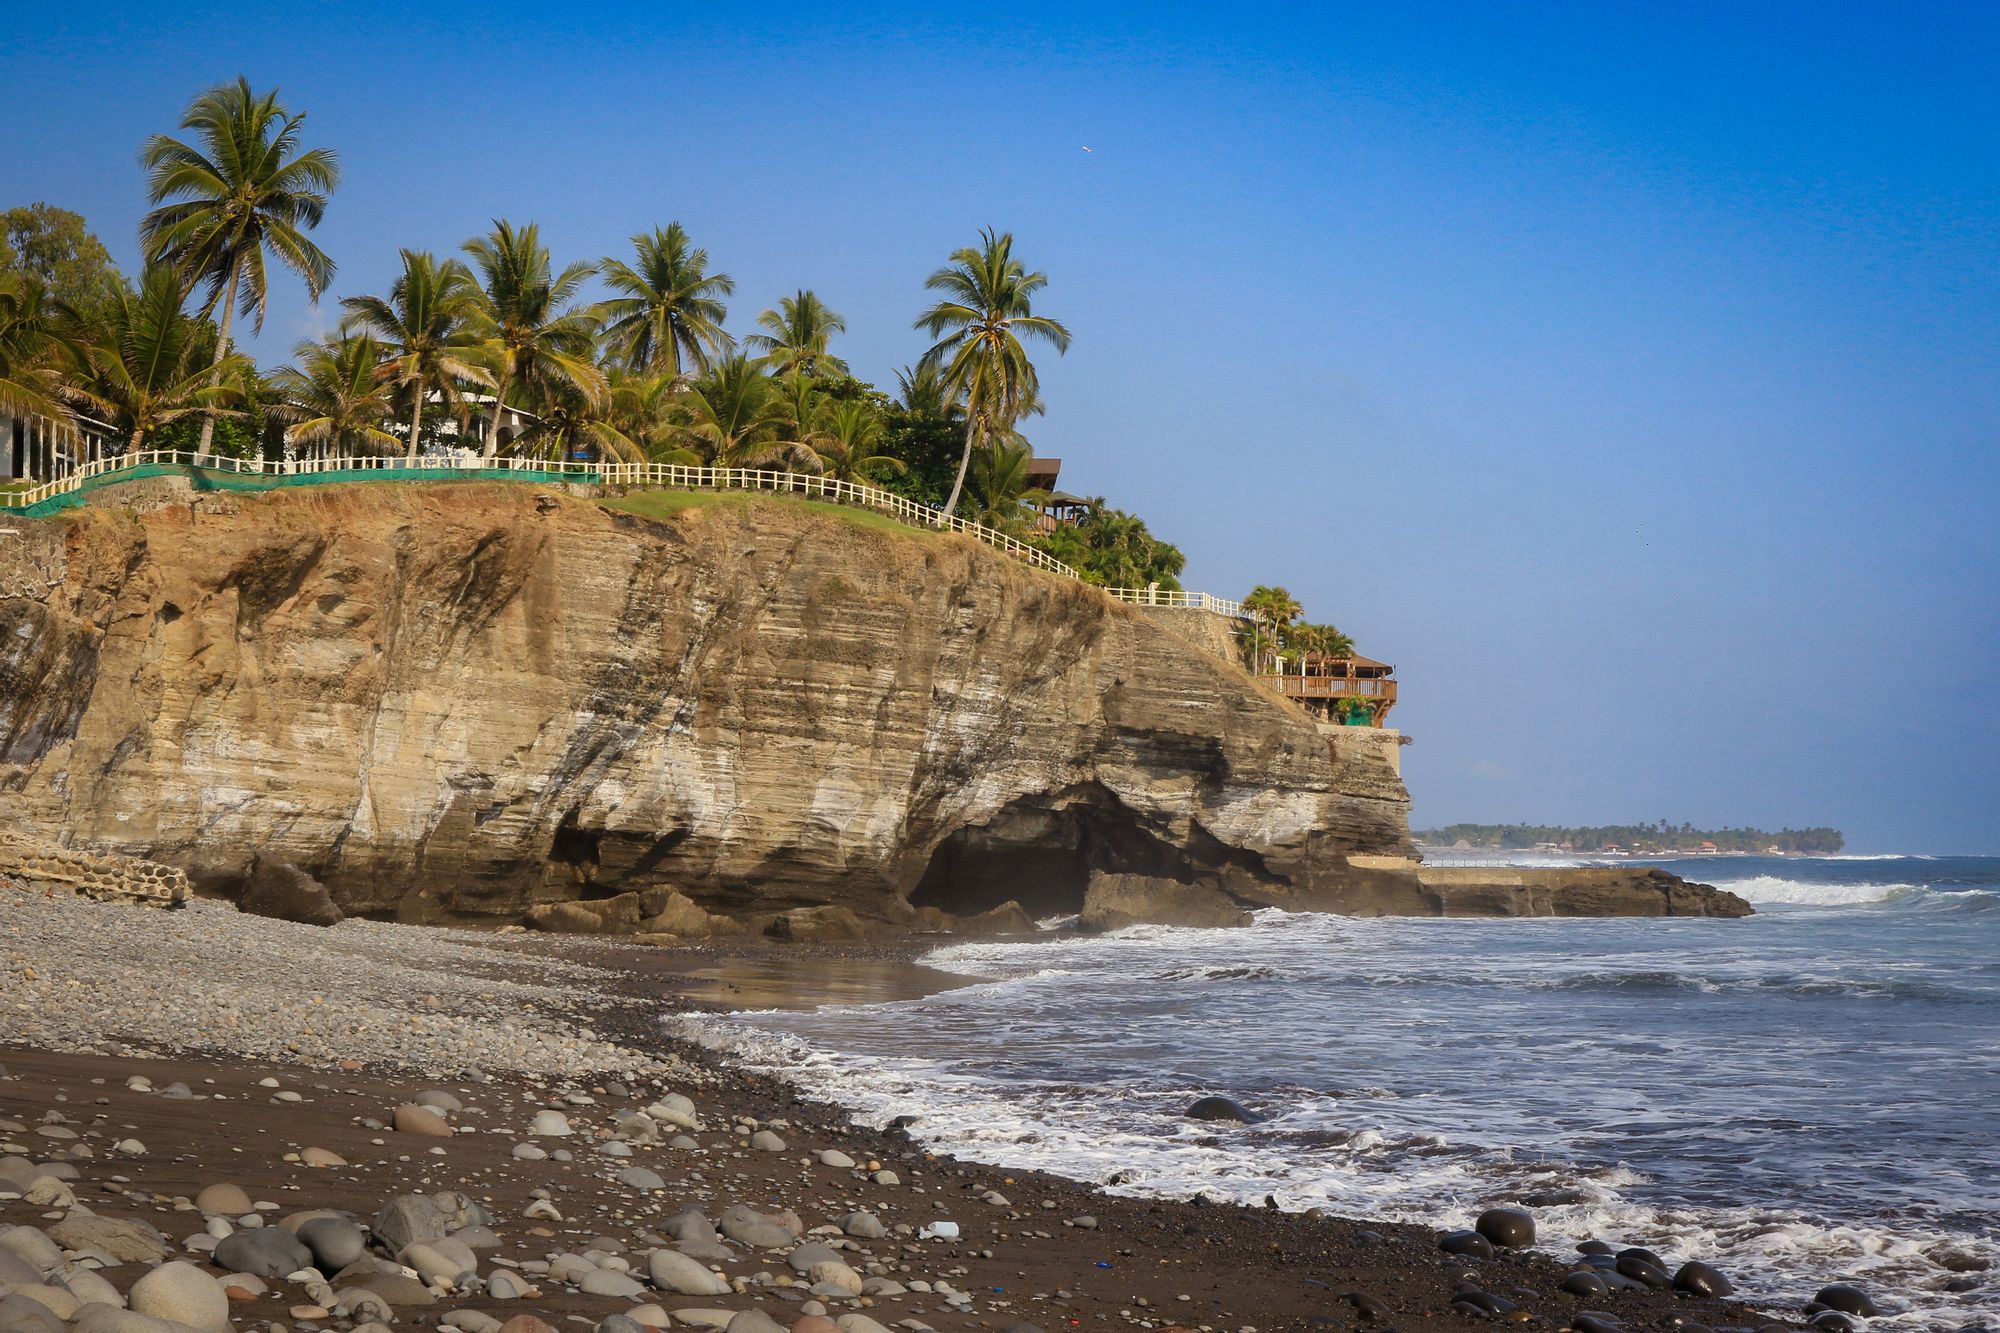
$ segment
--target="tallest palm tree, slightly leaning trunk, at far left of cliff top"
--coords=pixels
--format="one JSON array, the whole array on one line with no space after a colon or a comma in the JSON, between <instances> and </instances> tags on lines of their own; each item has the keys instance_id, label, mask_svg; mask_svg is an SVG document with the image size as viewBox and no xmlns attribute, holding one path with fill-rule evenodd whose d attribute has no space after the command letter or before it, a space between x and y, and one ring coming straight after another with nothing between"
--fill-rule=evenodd
<instances>
[{"instance_id":1,"label":"tallest palm tree, slightly leaning trunk, at far left of cliff top","mask_svg":"<svg viewBox=\"0 0 2000 1333\"><path fill-rule=\"evenodd\" d=\"M304 112L278 106L276 90L258 96L238 78L188 106L180 128L194 130L194 144L154 134L140 152L156 204L140 222L146 260L178 268L184 290L208 286L202 316L222 308L216 364L230 356L238 306L264 328L266 250L306 280L312 300L334 278L334 260L306 232L326 214L340 162L328 148L298 150L304 122ZM212 436L214 422L204 420L196 458Z\"/></svg>"}]
</instances>

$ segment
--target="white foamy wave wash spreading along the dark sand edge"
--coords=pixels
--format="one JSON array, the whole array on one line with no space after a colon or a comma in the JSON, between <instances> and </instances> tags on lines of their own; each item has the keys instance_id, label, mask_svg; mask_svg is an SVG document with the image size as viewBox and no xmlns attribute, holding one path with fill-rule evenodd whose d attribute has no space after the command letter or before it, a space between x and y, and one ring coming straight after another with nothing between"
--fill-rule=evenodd
<instances>
[{"instance_id":1,"label":"white foamy wave wash spreading along the dark sand edge","mask_svg":"<svg viewBox=\"0 0 2000 1333\"><path fill-rule=\"evenodd\" d=\"M1648 1245L1728 1271L1758 1303L1804 1301L1832 1277L1894 1291L1890 1327L1958 1327L2000 1313L2000 1293L1942 1291L1956 1267L2000 1267L1992 1235L1918 1217L1848 1223L1796 1209L1650 1205L1646 1177L1622 1163L1390 1133L1366 1115L1300 1115L1264 1125L1178 1119L1186 1089L1006 1087L948 1061L840 1055L744 1023L684 1015L670 1025L740 1065L778 1075L858 1121L922 1117L930 1151L1066 1175L1116 1195L1324 1207L1428 1227L1470 1225L1482 1207L1528 1203L1550 1249L1584 1239ZM1290 1123L1288 1123L1290 1121Z\"/></svg>"}]
</instances>

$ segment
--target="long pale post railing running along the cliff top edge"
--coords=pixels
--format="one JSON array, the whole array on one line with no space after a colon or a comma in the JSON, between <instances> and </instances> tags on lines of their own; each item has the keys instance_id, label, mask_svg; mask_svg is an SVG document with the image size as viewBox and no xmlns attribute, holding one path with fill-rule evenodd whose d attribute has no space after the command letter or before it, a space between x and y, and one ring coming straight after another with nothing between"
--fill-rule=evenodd
<instances>
[{"instance_id":1,"label":"long pale post railing running along the cliff top edge","mask_svg":"<svg viewBox=\"0 0 2000 1333\"><path fill-rule=\"evenodd\" d=\"M1046 550L1008 536L982 522L958 518L930 504L918 504L880 486L820 476L816 472L776 472L768 468L696 468L674 462L574 462L540 458L468 458L456 454L428 454L418 458L354 454L342 458L288 458L266 462L264 458L224 458L208 456L196 460L186 450L140 450L116 458L98 458L74 468L68 476L26 490L0 492L0 510L32 510L48 500L112 484L136 480L164 470L194 468L202 472L226 472L234 476L272 478L284 484L288 478L324 476L328 482L366 480L354 472L372 472L380 480L392 476L412 478L468 478L468 480L536 480L572 482L594 486L658 486L668 490L764 490L796 494L806 498L832 500L836 504L860 504L888 514L916 528L934 532L964 532L994 550L1002 550L1024 564L1044 568L1052 574L1084 580L1074 568L1054 558ZM1246 618L1242 602L1230 602L1206 592L1162 592L1158 588L1104 588L1120 602L1138 606L1188 606L1212 610L1220 616Z\"/></svg>"}]
</instances>

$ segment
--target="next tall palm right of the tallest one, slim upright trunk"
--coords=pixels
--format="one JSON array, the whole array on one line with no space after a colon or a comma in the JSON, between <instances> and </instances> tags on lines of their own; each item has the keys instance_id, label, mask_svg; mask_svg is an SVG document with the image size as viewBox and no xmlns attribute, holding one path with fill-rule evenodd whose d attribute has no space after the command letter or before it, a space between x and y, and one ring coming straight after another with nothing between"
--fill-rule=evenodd
<instances>
[{"instance_id":1,"label":"next tall palm right of the tallest one, slim upright trunk","mask_svg":"<svg viewBox=\"0 0 2000 1333\"><path fill-rule=\"evenodd\" d=\"M446 404L458 400L462 382L492 384L492 372L482 364L484 344L472 314L478 308L472 274L458 260L442 264L428 250L404 250L402 274L382 296L348 296L340 302L348 330L366 330L388 350L382 376L410 394L410 448L416 458L418 432L424 424L424 398L438 394Z\"/></svg>"}]
</instances>

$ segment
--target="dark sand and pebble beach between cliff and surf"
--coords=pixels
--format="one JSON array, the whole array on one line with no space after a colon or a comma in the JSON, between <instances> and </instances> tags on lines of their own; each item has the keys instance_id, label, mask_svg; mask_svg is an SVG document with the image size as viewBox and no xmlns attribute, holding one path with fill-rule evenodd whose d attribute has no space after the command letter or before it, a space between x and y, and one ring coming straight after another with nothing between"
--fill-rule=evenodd
<instances>
[{"instance_id":1,"label":"dark sand and pebble beach between cliff and surf","mask_svg":"<svg viewBox=\"0 0 2000 1333\"><path fill-rule=\"evenodd\" d=\"M1448 1255L1432 1227L1118 1197L932 1155L898 1129L854 1125L838 1107L662 1029L674 1011L738 1007L748 991L730 987L780 977L794 1003L814 999L814 975L834 977L848 1001L868 991L870 975L900 977L878 997L940 985L888 957L896 951L642 951L364 921L318 929L212 903L160 913L8 895L4 1153L32 1163L30 1179L46 1169L66 1189L6 1199L6 1225L54 1229L88 1209L156 1229L158 1243L142 1247L148 1259L100 1269L128 1293L156 1261L200 1259L190 1239L206 1247L214 1241L204 1237L236 1227L204 1223L192 1205L214 1185L270 1205L252 1209L266 1225L318 1211L354 1219L378 1237L370 1253L384 1263L392 1201L462 1195L446 1201L456 1211L442 1225L472 1229L472 1273L432 1269L426 1283L322 1265L292 1281L286 1269L240 1283L228 1307L238 1327L378 1321L382 1309L366 1297L340 1303L362 1285L412 1301L388 1305L396 1321L448 1319L468 1333L522 1315L606 1333L632 1333L606 1323L618 1317L728 1323L736 1333L812 1333L826 1327L816 1317L844 1321L846 1333L1460 1329L1474 1315L1588 1329L1586 1311L1634 1327L1772 1323L1736 1303L1644 1287L1568 1295L1560 1287L1576 1263L1566 1251ZM186 1097L168 1095L176 1083ZM670 1097L688 1101L662 1101ZM442 1135L422 1115L398 1117L420 1101L458 1105L438 1113ZM680 1115L658 1119L674 1105L688 1105L698 1129ZM530 1133L548 1113L572 1133ZM308 1153L342 1165L308 1167ZM742 1223L738 1205L776 1231L734 1225L748 1241L708 1231ZM924 1235L940 1223L956 1235ZM830 1253L804 1255L836 1267L800 1265L802 1245L826 1245ZM404 1265L432 1261L398 1249ZM658 1251L712 1263L726 1289L664 1291L658 1277L684 1277L686 1265ZM102 1259L88 1245L60 1255L68 1269ZM202 1271L224 1277L216 1263Z\"/></svg>"}]
</instances>

